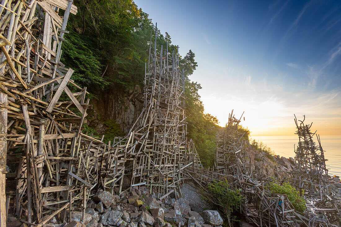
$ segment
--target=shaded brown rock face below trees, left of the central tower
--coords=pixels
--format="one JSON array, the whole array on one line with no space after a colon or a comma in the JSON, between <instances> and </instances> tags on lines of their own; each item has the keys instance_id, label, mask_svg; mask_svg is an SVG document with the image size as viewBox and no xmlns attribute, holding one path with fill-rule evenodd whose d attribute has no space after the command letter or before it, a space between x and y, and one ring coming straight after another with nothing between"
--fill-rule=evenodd
<instances>
[{"instance_id":1,"label":"shaded brown rock face below trees, left of the central tower","mask_svg":"<svg viewBox=\"0 0 341 227\"><path fill-rule=\"evenodd\" d=\"M99 134L105 134L105 121L116 122L124 134L127 134L141 113L143 101L139 85L128 91L109 90L98 96L93 102L93 116L90 124Z\"/></svg>"}]
</instances>

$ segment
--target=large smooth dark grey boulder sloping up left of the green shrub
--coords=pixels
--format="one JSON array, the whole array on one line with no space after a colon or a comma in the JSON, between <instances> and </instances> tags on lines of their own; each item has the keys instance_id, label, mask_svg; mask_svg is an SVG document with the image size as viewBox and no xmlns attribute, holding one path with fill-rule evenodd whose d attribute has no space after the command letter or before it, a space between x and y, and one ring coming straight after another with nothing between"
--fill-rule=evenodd
<instances>
[{"instance_id":1,"label":"large smooth dark grey boulder sloping up left of the green shrub","mask_svg":"<svg viewBox=\"0 0 341 227\"><path fill-rule=\"evenodd\" d=\"M191 210L200 213L205 209L211 209L208 203L201 199L201 194L198 192L198 189L190 184L181 185L181 194L184 199L189 201Z\"/></svg>"}]
</instances>

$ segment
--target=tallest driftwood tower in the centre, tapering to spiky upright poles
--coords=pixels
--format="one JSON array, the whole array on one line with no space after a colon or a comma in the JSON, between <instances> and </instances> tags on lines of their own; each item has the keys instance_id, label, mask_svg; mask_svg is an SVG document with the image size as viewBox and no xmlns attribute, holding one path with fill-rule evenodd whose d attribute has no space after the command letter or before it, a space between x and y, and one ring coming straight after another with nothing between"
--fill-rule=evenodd
<instances>
[{"instance_id":1,"label":"tallest driftwood tower in the centre, tapering to spiky upright poles","mask_svg":"<svg viewBox=\"0 0 341 227\"><path fill-rule=\"evenodd\" d=\"M122 139L123 146L114 145L113 150L115 155L124 154L117 163L124 163L120 168L124 168L131 187L145 185L150 192L159 192L158 198L164 198L177 191L181 170L186 167L187 123L179 55L177 50L170 54L168 44L157 49L156 29L146 63L144 108Z\"/></svg>"}]
</instances>

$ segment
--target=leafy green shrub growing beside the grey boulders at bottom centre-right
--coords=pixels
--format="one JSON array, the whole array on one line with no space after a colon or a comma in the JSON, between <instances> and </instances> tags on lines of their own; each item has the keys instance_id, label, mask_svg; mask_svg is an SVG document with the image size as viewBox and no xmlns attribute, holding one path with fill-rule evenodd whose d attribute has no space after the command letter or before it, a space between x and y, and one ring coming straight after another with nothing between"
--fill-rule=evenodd
<instances>
[{"instance_id":1,"label":"leafy green shrub growing beside the grey boulders at bottom centre-right","mask_svg":"<svg viewBox=\"0 0 341 227\"><path fill-rule=\"evenodd\" d=\"M224 215L231 226L235 221L235 217L232 217L231 213L240 206L243 199L240 195L240 189L230 189L227 179L213 181L207 185L207 189L210 193L211 201L224 211Z\"/></svg>"}]
</instances>

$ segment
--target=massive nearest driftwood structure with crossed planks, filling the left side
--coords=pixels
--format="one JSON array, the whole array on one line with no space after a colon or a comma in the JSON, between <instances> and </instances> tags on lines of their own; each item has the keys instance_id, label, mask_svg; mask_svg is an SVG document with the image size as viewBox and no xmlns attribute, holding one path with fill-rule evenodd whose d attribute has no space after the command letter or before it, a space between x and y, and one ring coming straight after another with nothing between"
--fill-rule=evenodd
<instances>
[{"instance_id":1,"label":"massive nearest driftwood structure with crossed planks, filling the left side","mask_svg":"<svg viewBox=\"0 0 341 227\"><path fill-rule=\"evenodd\" d=\"M60 62L70 13L72 0L0 4L0 226L9 209L34 226L69 221L98 186L109 146L82 133L92 106Z\"/></svg>"}]
</instances>

